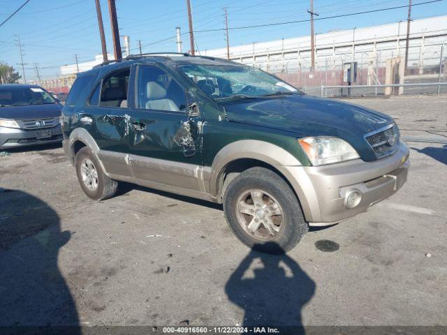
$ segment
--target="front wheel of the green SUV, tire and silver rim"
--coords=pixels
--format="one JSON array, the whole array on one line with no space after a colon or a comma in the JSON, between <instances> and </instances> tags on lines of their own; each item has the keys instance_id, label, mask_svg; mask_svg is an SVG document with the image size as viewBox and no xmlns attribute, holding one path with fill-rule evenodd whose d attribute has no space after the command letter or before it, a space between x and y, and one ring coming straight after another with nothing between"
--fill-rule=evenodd
<instances>
[{"instance_id":1,"label":"front wheel of the green SUV, tire and silver rim","mask_svg":"<svg viewBox=\"0 0 447 335\"><path fill-rule=\"evenodd\" d=\"M223 211L236 237L265 253L290 251L309 230L291 187L266 168L250 168L235 177L223 195Z\"/></svg>"}]
</instances>

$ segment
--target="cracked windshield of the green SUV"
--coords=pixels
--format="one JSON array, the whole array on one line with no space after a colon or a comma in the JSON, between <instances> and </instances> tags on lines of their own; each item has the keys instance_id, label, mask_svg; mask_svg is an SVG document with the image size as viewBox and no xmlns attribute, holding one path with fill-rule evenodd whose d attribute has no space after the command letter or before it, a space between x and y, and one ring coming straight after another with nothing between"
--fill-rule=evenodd
<instances>
[{"instance_id":1,"label":"cracked windshield of the green SUV","mask_svg":"<svg viewBox=\"0 0 447 335\"><path fill-rule=\"evenodd\" d=\"M251 66L186 65L183 72L215 99L302 94L277 77Z\"/></svg>"}]
</instances>

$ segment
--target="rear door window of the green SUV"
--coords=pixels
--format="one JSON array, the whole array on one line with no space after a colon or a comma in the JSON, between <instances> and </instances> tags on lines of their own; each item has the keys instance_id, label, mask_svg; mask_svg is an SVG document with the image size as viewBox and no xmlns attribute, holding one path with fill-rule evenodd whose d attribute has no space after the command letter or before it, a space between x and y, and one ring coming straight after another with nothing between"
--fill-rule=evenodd
<instances>
[{"instance_id":1,"label":"rear door window of the green SUV","mask_svg":"<svg viewBox=\"0 0 447 335\"><path fill-rule=\"evenodd\" d=\"M127 107L127 88L129 87L130 68L119 70L105 77L101 87L101 102L104 107Z\"/></svg>"}]
</instances>

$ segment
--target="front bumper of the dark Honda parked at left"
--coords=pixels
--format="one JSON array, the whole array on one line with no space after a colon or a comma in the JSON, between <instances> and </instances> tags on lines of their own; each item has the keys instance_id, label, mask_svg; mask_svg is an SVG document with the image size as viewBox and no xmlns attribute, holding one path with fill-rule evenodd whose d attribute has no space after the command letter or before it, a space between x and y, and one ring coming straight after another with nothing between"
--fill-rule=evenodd
<instances>
[{"instance_id":1,"label":"front bumper of the dark Honda parked at left","mask_svg":"<svg viewBox=\"0 0 447 335\"><path fill-rule=\"evenodd\" d=\"M38 131L51 131L51 137L37 139ZM26 147L29 145L51 144L62 141L61 126L28 131L20 128L0 127L0 148Z\"/></svg>"}]
</instances>

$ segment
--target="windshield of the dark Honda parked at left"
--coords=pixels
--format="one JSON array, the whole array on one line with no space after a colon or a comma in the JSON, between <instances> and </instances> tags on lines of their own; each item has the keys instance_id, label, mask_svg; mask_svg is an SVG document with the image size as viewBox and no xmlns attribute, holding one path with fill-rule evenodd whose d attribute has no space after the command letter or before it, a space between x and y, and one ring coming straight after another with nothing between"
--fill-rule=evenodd
<instances>
[{"instance_id":1,"label":"windshield of the dark Honda parked at left","mask_svg":"<svg viewBox=\"0 0 447 335\"><path fill-rule=\"evenodd\" d=\"M54 98L40 87L0 87L0 107L43 105L55 102Z\"/></svg>"}]
</instances>

